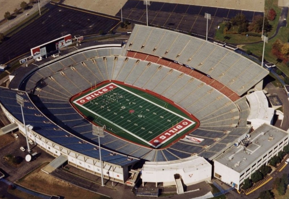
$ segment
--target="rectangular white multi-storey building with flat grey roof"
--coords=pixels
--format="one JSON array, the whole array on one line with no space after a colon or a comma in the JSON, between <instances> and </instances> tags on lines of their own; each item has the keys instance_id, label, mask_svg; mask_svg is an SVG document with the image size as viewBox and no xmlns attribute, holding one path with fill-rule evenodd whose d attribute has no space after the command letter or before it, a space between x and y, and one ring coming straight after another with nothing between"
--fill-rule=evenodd
<instances>
[{"instance_id":1,"label":"rectangular white multi-storey building with flat grey roof","mask_svg":"<svg viewBox=\"0 0 289 199\"><path fill-rule=\"evenodd\" d=\"M214 177L240 189L245 179L288 145L288 135L272 125L261 125L250 134L247 147L235 144L214 160Z\"/></svg>"}]
</instances>

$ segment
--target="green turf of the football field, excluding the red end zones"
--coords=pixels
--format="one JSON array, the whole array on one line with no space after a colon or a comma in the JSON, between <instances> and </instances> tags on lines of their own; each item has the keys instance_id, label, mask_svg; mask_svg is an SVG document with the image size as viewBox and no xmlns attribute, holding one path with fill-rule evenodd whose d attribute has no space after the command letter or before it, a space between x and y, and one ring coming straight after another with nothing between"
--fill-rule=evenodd
<instances>
[{"instance_id":1,"label":"green turf of the football field, excluding the red end zones","mask_svg":"<svg viewBox=\"0 0 289 199\"><path fill-rule=\"evenodd\" d=\"M104 85L100 87L104 87ZM74 101L88 93L91 93L91 90L74 99ZM76 106L89 120L100 126L106 125L106 129L116 136L145 146L150 146L149 141L173 125L184 119L191 120L184 112L168 102L141 90L123 85L118 85L115 89L90 100L82 106L77 104ZM134 113L130 113L130 110L133 110ZM161 147L170 144L192 130L196 124L197 122L178 133Z\"/></svg>"}]
</instances>

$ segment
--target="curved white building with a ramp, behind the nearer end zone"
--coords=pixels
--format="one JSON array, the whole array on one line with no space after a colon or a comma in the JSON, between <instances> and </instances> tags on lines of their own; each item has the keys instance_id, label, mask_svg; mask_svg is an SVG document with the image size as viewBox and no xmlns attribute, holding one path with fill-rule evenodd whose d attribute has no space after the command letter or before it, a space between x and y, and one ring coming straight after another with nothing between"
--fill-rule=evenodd
<instances>
[{"instance_id":1,"label":"curved white building with a ramp, behind the nearer end zone","mask_svg":"<svg viewBox=\"0 0 289 199\"><path fill-rule=\"evenodd\" d=\"M203 157L191 156L170 162L146 162L141 178L144 182L162 182L163 186L175 185L179 176L183 184L189 186L204 180L211 180L212 165Z\"/></svg>"}]
</instances>

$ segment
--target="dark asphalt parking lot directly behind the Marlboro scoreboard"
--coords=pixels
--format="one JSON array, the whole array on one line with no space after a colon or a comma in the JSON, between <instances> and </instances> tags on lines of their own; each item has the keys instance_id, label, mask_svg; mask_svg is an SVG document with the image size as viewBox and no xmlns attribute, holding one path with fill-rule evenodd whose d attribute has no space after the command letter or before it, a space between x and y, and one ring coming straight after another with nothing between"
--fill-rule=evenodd
<instances>
[{"instance_id":1,"label":"dark asphalt parking lot directly behind the Marlboro scoreboard","mask_svg":"<svg viewBox=\"0 0 289 199\"><path fill-rule=\"evenodd\" d=\"M108 32L119 22L117 19L80 9L53 4L47 4L46 7L48 12L0 45L0 64L61 36L71 34L74 38L75 35L98 34L100 30Z\"/></svg>"}]
</instances>

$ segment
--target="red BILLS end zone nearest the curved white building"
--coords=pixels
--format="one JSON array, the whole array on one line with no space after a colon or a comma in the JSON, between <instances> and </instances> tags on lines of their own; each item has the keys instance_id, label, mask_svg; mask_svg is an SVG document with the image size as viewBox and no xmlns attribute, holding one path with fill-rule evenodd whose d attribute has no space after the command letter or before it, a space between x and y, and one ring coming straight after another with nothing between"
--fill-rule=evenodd
<instances>
[{"instance_id":1,"label":"red BILLS end zone nearest the curved white building","mask_svg":"<svg viewBox=\"0 0 289 199\"><path fill-rule=\"evenodd\" d=\"M189 120L184 119L182 122L179 122L178 124L172 126L165 132L158 135L157 137L153 138L151 141L149 141L149 143L153 145L155 148L157 148L166 141L176 136L178 133L181 133L183 130L189 128L193 124L195 124L195 122L193 123Z\"/></svg>"}]
</instances>

